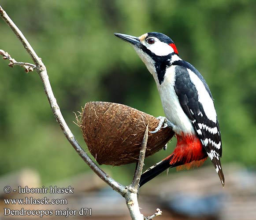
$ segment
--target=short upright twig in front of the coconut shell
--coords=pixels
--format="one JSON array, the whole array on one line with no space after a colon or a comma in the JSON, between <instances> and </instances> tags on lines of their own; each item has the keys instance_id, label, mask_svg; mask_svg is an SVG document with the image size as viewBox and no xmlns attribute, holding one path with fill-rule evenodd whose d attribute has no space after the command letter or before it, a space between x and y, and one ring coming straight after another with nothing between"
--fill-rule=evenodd
<instances>
[{"instance_id":1,"label":"short upright twig in front of the coconut shell","mask_svg":"<svg viewBox=\"0 0 256 220\"><path fill-rule=\"evenodd\" d=\"M133 187L134 189L137 189L137 190L138 190L138 187L139 187L139 182L140 182L140 179L141 179L142 169L143 169L143 165L144 165L147 142L148 142L148 125L147 125L147 128L145 130L145 134L144 134L144 137L143 137L143 140L142 140L140 156L139 156L139 161L138 161L138 164L137 164L137 169L136 169L135 174L134 174L134 180L131 183L131 187Z\"/></svg>"}]
</instances>

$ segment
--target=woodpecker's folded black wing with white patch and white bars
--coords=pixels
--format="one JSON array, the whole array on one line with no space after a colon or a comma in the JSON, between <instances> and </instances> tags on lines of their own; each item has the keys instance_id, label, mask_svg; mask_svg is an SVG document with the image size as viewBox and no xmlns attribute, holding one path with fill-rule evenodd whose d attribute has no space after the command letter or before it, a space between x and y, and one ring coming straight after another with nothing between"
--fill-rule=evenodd
<instances>
[{"instance_id":1,"label":"woodpecker's folded black wing with white patch and white bars","mask_svg":"<svg viewBox=\"0 0 256 220\"><path fill-rule=\"evenodd\" d=\"M210 89L201 74L190 63L179 60L172 65L176 65L174 89L182 110L192 121L193 128L224 186L225 180L220 163L222 142Z\"/></svg>"}]
</instances>

